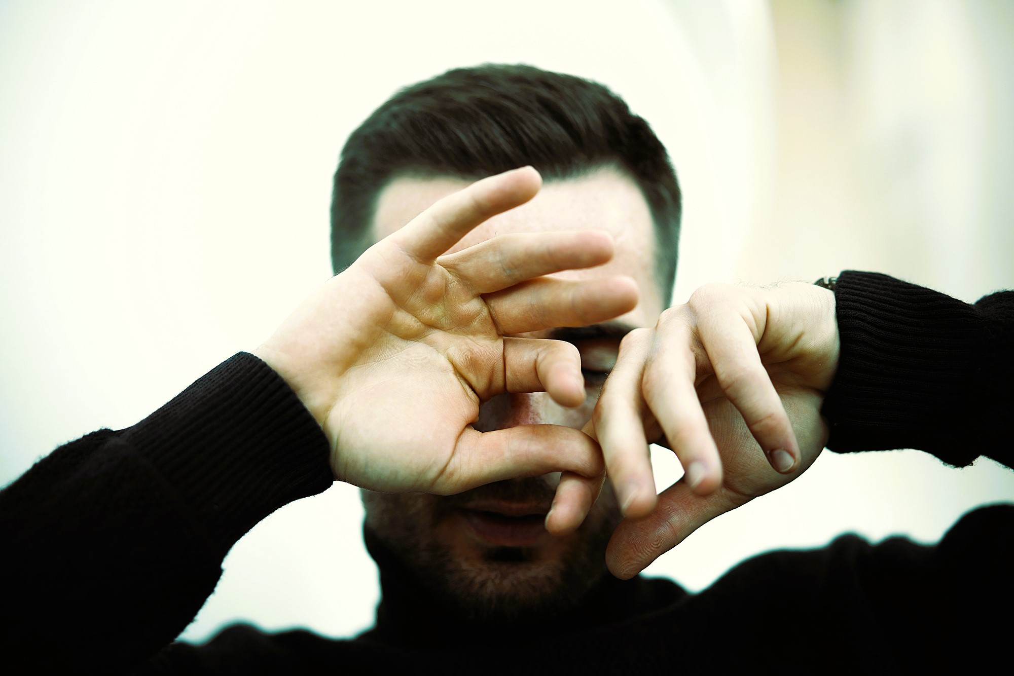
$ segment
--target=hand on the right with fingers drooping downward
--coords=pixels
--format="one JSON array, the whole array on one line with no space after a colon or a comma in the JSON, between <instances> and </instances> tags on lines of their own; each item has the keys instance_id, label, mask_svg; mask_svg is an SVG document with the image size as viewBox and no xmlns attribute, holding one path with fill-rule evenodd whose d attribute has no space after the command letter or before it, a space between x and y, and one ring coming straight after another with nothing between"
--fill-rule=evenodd
<instances>
[{"instance_id":1,"label":"hand on the right with fingers drooping downward","mask_svg":"<svg viewBox=\"0 0 1014 676\"><path fill-rule=\"evenodd\" d=\"M606 551L630 578L716 516L788 483L820 453L838 365L834 294L801 283L702 287L654 328L632 331L585 427L624 515ZM683 478L656 497L648 443ZM565 474L547 526L580 523L600 479Z\"/></svg>"}]
</instances>

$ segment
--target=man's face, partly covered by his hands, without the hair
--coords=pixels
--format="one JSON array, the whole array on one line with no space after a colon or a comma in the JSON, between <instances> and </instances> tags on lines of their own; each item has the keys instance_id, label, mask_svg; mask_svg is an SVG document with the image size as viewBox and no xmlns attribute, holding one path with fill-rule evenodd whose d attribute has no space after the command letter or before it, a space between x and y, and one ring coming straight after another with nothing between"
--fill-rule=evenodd
<instances>
[{"instance_id":1,"label":"man's face, partly covered by his hands, without the hair","mask_svg":"<svg viewBox=\"0 0 1014 676\"><path fill-rule=\"evenodd\" d=\"M386 237L467 181L402 176L380 193L374 238ZM604 266L559 273L566 279L627 275L638 284L633 310L605 324L524 333L573 343L581 353L585 401L566 408L545 392L501 394L483 403L476 429L490 431L549 423L580 429L591 418L620 340L631 328L653 326L662 311L655 279L651 213L636 183L603 168L552 181L529 203L493 217L454 246L460 250L496 235L547 230L608 231L615 243ZM605 574L604 552L620 522L608 483L581 527L564 537L546 531L559 473L490 483L457 496L363 492L367 526L423 584L466 617L521 619L552 613L580 600Z\"/></svg>"}]
</instances>

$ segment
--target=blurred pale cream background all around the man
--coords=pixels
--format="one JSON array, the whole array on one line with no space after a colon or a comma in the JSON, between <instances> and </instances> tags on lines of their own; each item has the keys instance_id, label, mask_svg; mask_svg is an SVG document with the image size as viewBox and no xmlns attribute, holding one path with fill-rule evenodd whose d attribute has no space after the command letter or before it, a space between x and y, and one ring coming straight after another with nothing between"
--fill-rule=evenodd
<instances>
[{"instance_id":1,"label":"blurred pale cream background all around the man","mask_svg":"<svg viewBox=\"0 0 1014 676\"><path fill-rule=\"evenodd\" d=\"M581 75L651 123L685 198L674 302L844 269L1014 287L1012 37L1006 0L0 0L0 484L267 337L331 275L347 135L456 66ZM661 489L681 470L654 457ZM986 459L825 452L647 573L699 590L846 531L934 541L1012 498ZM262 522L184 637L369 626L361 518L336 484Z\"/></svg>"}]
</instances>

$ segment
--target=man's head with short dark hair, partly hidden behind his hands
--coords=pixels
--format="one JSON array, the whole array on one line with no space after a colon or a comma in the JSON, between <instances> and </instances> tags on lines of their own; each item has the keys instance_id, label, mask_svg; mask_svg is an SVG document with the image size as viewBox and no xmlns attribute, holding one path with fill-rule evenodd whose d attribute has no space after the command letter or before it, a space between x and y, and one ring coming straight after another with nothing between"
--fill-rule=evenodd
<instances>
[{"instance_id":1,"label":"man's head with short dark hair, partly hidden behind his hands","mask_svg":"<svg viewBox=\"0 0 1014 676\"><path fill-rule=\"evenodd\" d=\"M505 393L486 401L476 429L521 424L576 429L590 419L621 339L654 325L668 304L680 194L648 125L603 87L524 66L454 70L400 92L350 137L335 175L336 271L439 198L476 178L533 164L547 184L531 203L494 217L451 250L495 234L602 229L615 253L574 279L627 275L639 302L622 317L576 329L520 333L566 340L581 354L583 401ZM603 551L620 520L611 491L574 533L544 522L556 477L494 483L458 496L365 492L367 541L407 565L437 603L465 616L530 618L572 605L606 574Z\"/></svg>"}]
</instances>

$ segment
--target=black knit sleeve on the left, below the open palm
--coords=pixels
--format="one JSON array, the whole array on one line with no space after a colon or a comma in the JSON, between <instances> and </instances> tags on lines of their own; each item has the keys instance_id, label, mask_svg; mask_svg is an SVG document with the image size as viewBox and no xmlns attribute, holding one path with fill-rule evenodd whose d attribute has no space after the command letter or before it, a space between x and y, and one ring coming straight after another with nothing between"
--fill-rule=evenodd
<instances>
[{"instance_id":1,"label":"black knit sleeve on the left, below the open palm","mask_svg":"<svg viewBox=\"0 0 1014 676\"><path fill-rule=\"evenodd\" d=\"M121 673L193 620L232 544L332 483L328 441L240 353L141 423L62 446L0 492L0 647L31 673Z\"/></svg>"}]
</instances>

